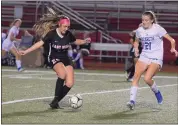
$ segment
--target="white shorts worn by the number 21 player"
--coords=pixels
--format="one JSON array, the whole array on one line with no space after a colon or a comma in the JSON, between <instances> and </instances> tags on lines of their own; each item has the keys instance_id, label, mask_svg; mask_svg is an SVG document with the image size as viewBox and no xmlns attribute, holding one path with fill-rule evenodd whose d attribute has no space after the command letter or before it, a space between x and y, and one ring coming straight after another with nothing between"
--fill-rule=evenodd
<instances>
[{"instance_id":1,"label":"white shorts worn by the number 21 player","mask_svg":"<svg viewBox=\"0 0 178 125\"><path fill-rule=\"evenodd\" d=\"M150 65L151 63L156 63L160 66L160 69L162 68L163 66L163 60L161 59L156 59L156 58L148 58L148 57L145 57L143 55L140 55L140 58L138 59L139 61L142 61L148 65Z\"/></svg>"}]
</instances>

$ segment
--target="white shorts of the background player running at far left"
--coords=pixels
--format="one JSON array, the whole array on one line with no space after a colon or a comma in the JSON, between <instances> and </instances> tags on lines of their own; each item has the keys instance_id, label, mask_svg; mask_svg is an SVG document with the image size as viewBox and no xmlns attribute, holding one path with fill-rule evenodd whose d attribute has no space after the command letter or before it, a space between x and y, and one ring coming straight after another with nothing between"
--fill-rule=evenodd
<instances>
[{"instance_id":1,"label":"white shorts of the background player running at far left","mask_svg":"<svg viewBox=\"0 0 178 125\"><path fill-rule=\"evenodd\" d=\"M6 52L9 52L9 50L11 50L14 47L15 47L14 42L12 42L8 39L5 39L3 44L2 44L2 50L5 50Z\"/></svg>"}]
</instances>

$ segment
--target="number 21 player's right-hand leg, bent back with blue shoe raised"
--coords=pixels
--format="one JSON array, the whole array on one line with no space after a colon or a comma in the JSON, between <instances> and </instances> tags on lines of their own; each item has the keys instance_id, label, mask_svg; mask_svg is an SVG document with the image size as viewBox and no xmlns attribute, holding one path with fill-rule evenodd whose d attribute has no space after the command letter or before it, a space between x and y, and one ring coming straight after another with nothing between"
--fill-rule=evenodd
<instances>
[{"instance_id":1,"label":"number 21 player's right-hand leg, bent back with blue shoe raised","mask_svg":"<svg viewBox=\"0 0 178 125\"><path fill-rule=\"evenodd\" d=\"M145 73L144 81L150 86L151 90L154 92L158 104L162 104L163 98L161 92L157 88L155 81L152 79L153 76L159 71L160 65L157 63L151 63Z\"/></svg>"}]
</instances>

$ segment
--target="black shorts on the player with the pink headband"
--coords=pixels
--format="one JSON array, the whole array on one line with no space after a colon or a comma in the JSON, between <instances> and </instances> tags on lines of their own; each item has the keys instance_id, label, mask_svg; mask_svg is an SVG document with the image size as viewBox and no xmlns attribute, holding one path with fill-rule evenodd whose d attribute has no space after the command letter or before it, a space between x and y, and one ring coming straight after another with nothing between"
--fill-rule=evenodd
<instances>
[{"instance_id":1,"label":"black shorts on the player with the pink headband","mask_svg":"<svg viewBox=\"0 0 178 125\"><path fill-rule=\"evenodd\" d=\"M57 63L63 63L64 66L68 66L68 65L71 65L72 66L72 62L71 60L67 57L67 58L50 58L48 60L49 62L49 65L51 68L53 68Z\"/></svg>"}]
</instances>

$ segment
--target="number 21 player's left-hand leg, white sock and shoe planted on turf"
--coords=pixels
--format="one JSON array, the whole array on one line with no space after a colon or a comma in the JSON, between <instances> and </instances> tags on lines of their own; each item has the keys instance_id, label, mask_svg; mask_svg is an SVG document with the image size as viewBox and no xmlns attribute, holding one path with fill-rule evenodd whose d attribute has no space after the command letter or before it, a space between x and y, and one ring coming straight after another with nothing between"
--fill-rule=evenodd
<instances>
[{"instance_id":1,"label":"number 21 player's left-hand leg, white sock and shoe planted on turf","mask_svg":"<svg viewBox=\"0 0 178 125\"><path fill-rule=\"evenodd\" d=\"M135 107L135 102L136 102L136 94L138 90L138 82L140 80L141 75L144 73L144 71L147 69L148 64L138 61L135 65L135 74L134 74L134 79L132 82L132 87L130 89L130 101L127 103L127 107L130 110L133 110Z\"/></svg>"}]
</instances>

